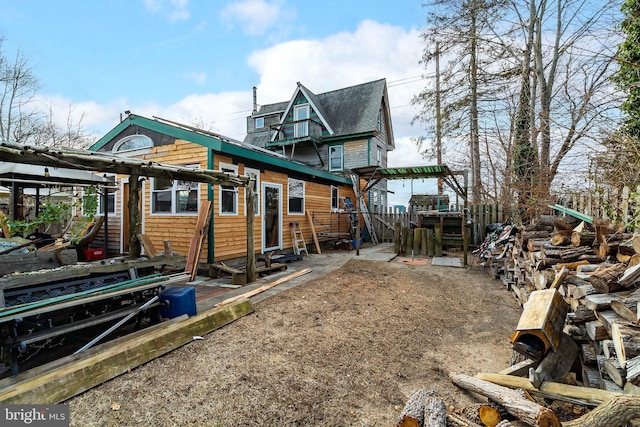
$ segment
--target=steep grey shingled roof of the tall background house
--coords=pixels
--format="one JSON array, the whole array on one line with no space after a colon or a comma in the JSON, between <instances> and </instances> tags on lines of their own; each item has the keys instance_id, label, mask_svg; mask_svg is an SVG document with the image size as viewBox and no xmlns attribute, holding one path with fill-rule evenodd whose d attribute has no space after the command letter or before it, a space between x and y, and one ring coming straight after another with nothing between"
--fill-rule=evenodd
<instances>
[{"instance_id":1,"label":"steep grey shingled roof of the tall background house","mask_svg":"<svg viewBox=\"0 0 640 427\"><path fill-rule=\"evenodd\" d=\"M293 108L299 93L302 93L309 101L309 104L311 104L311 107L327 128L331 137L375 134L377 132L378 113L380 108L383 108L386 110L384 119L386 119L387 138L389 144L393 146L393 130L389 117L386 79L374 80L319 94L311 92L306 86L298 83L288 103L283 101L262 105L254 116L282 111L283 104L286 104L280 122L283 123L287 114Z\"/></svg>"}]
</instances>

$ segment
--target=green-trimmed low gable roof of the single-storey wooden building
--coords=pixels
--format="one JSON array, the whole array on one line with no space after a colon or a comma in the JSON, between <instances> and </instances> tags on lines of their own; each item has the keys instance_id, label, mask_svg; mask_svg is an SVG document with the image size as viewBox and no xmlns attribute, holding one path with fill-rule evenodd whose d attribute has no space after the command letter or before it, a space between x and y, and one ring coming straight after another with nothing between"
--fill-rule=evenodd
<instances>
[{"instance_id":1,"label":"green-trimmed low gable roof of the single-storey wooden building","mask_svg":"<svg viewBox=\"0 0 640 427\"><path fill-rule=\"evenodd\" d=\"M260 162L265 165L271 165L277 169L304 174L310 178L332 181L335 183L351 184L351 180L348 178L319 170L299 161L295 161L282 154L259 148L245 142L237 141L232 138L227 138L213 132L161 119L159 117L149 119L143 116L129 114L122 122L89 147L89 150L99 151L101 148L118 138L119 135L121 135L122 132L130 126L145 128L163 135L168 135L175 139L181 139L207 147L216 153Z\"/></svg>"}]
</instances>

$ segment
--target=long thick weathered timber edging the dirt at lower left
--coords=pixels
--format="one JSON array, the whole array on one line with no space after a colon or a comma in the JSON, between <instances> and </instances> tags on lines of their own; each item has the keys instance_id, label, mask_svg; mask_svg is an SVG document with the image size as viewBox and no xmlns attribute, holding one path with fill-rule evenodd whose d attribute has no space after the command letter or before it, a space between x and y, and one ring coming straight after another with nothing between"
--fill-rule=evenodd
<instances>
[{"instance_id":1,"label":"long thick weathered timber edging the dirt at lower left","mask_svg":"<svg viewBox=\"0 0 640 427\"><path fill-rule=\"evenodd\" d=\"M159 328L89 357L76 359L53 371L27 378L0 390L3 404L59 403L89 390L129 369L140 366L240 317L253 313L244 299L192 316L183 322ZM24 373L28 376L28 371Z\"/></svg>"}]
</instances>

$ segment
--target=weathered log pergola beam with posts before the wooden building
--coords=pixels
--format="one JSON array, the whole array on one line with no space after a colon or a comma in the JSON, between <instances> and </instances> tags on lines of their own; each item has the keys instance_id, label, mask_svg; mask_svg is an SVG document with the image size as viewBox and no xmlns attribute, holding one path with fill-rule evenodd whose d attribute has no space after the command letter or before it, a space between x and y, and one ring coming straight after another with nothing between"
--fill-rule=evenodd
<instances>
[{"instance_id":1,"label":"weathered log pergola beam with posts before the wooden building","mask_svg":"<svg viewBox=\"0 0 640 427\"><path fill-rule=\"evenodd\" d=\"M142 177L164 178L203 182L212 185L245 187L247 209L253 209L253 185L249 177L234 175L211 169L191 169L171 164L157 163L148 160L120 157L112 154L80 150L67 147L48 147L41 145L23 145L0 141L0 161L25 165L26 171L33 166L45 167L49 173L38 177L39 182L56 183L62 178L64 182L73 183L73 177L60 177L59 170L88 171L93 173L114 173L128 175L129 179L129 256L137 258L141 254L141 243L138 232L141 224L139 209ZM28 166L26 166L28 165ZM56 171L55 174L52 174ZM75 172L74 172L75 173ZM48 175L48 176L47 176ZM22 179L22 178L19 178ZM77 179L77 184L87 185L86 180ZM100 184L106 184L101 182ZM251 206L249 206L251 205ZM249 212L251 212L249 210ZM247 215L247 279L255 280L255 245L253 241L253 215ZM250 238L251 237L251 238ZM197 267L196 267L197 268Z\"/></svg>"}]
</instances>

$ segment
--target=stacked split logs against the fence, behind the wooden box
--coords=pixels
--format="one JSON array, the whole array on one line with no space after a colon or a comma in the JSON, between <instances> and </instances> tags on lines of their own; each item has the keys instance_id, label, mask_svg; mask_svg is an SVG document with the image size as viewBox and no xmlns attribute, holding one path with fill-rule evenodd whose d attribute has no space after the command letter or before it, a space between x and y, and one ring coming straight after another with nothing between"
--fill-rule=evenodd
<instances>
[{"instance_id":1,"label":"stacked split logs against the fence, behind the wooden box","mask_svg":"<svg viewBox=\"0 0 640 427\"><path fill-rule=\"evenodd\" d=\"M592 229L552 223L509 242L494 261L496 277L521 305L534 291L558 290L570 307L565 329L580 347L574 375L585 387L640 391L640 262L632 262L640 237L602 220Z\"/></svg>"}]
</instances>

